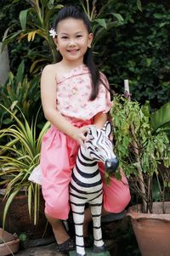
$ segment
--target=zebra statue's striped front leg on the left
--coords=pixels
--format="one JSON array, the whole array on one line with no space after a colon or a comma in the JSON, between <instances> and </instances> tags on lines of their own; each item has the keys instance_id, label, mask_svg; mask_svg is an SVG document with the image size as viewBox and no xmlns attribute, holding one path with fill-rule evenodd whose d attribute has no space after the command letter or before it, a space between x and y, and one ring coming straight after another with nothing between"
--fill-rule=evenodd
<instances>
[{"instance_id":1,"label":"zebra statue's striped front leg on the left","mask_svg":"<svg viewBox=\"0 0 170 256\"><path fill-rule=\"evenodd\" d=\"M85 203L72 203L72 215L76 232L77 256L86 256L83 239L83 222Z\"/></svg>"}]
</instances>

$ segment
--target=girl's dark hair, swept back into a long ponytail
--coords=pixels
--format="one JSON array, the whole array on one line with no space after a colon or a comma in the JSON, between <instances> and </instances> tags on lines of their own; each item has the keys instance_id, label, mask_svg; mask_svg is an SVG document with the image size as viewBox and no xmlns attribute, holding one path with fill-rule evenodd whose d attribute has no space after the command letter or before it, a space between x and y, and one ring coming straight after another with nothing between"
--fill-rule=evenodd
<instances>
[{"instance_id":1,"label":"girl's dark hair, swept back into a long ponytail","mask_svg":"<svg viewBox=\"0 0 170 256\"><path fill-rule=\"evenodd\" d=\"M57 29L59 21L65 20L68 18L82 20L84 22L84 25L87 27L88 33L91 32L91 23L90 23L90 20L88 20L88 16L84 12L82 12L82 10L77 9L72 5L65 6L64 8L59 10L57 17L54 20L54 29L55 30ZM88 69L91 74L91 80L92 80L92 92L90 94L89 100L95 100L99 93L100 78L99 78L99 69L94 64L94 58L93 58L91 48L88 48L86 54L84 54L83 63L88 66Z\"/></svg>"}]
</instances>

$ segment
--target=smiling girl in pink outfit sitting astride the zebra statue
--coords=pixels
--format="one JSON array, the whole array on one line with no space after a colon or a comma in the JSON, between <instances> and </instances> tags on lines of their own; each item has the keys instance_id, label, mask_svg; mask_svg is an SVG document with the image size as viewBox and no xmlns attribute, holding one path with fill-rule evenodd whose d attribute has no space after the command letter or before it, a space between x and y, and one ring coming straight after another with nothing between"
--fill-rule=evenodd
<instances>
[{"instance_id":1,"label":"smiling girl in pink outfit sitting astride the zebra statue","mask_svg":"<svg viewBox=\"0 0 170 256\"><path fill-rule=\"evenodd\" d=\"M52 225L59 251L67 251L74 243L61 219L68 219L69 183L79 145L86 139L88 125L102 128L111 108L109 84L94 65L90 21L73 6L59 11L51 31L61 60L42 71L41 97L44 115L51 128L42 139L42 195L45 214ZM104 167L103 213L119 213L130 200L127 179L111 178L105 185ZM87 209L85 227L91 220ZM87 224L87 225L86 225ZM87 234L84 229L84 236Z\"/></svg>"}]
</instances>

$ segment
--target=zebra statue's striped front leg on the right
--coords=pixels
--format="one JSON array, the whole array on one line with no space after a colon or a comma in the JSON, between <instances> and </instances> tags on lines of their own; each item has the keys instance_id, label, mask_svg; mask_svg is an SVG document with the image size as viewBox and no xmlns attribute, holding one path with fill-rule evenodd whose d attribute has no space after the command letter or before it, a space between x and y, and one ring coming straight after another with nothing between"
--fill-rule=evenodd
<instances>
[{"instance_id":1,"label":"zebra statue's striped front leg on the right","mask_svg":"<svg viewBox=\"0 0 170 256\"><path fill-rule=\"evenodd\" d=\"M102 197L103 195L100 194L98 198L95 198L93 201L90 202L90 208L94 224L94 253L100 253L105 251L105 243L102 239L101 230Z\"/></svg>"}]
</instances>

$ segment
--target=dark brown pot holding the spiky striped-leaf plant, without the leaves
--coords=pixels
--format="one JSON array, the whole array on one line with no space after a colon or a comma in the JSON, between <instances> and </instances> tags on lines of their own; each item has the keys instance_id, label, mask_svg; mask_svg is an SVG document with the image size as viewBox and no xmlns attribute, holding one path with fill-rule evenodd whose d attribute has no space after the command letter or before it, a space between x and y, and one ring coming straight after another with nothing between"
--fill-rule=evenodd
<instances>
[{"instance_id":1,"label":"dark brown pot holding the spiky striped-leaf plant, without the leaves","mask_svg":"<svg viewBox=\"0 0 170 256\"><path fill-rule=\"evenodd\" d=\"M3 223L3 208L5 205L2 191L0 191L0 223ZM31 241L33 242L33 246L36 246L36 242L38 243L37 245L54 242L53 230L49 224L47 226L42 196L40 197L37 225L34 225L33 214L31 214L31 218L29 216L26 192L20 192L18 196L14 197L13 202L8 208L4 229L12 234L16 233L18 236L25 234L28 246L31 246Z\"/></svg>"}]
</instances>

